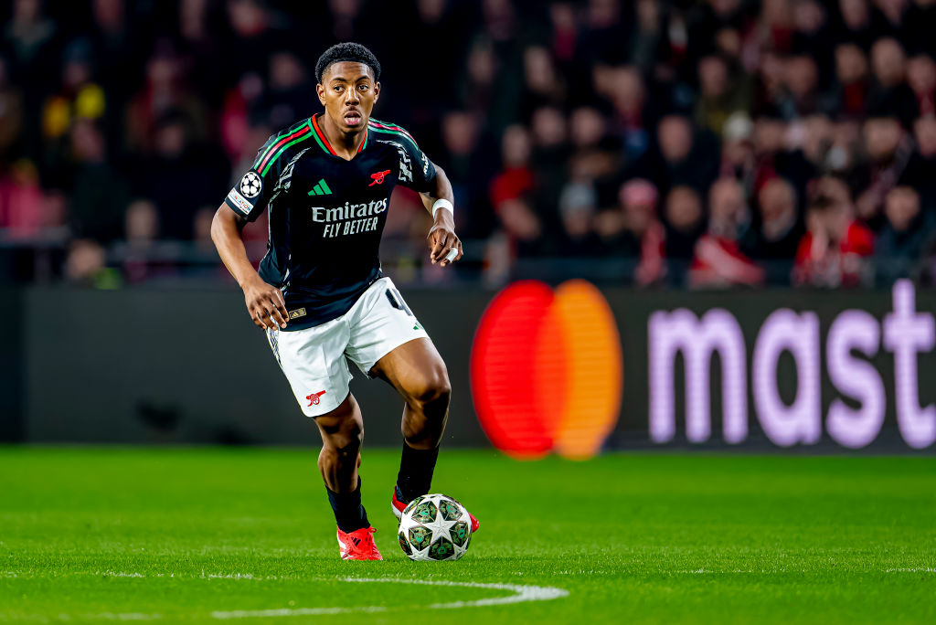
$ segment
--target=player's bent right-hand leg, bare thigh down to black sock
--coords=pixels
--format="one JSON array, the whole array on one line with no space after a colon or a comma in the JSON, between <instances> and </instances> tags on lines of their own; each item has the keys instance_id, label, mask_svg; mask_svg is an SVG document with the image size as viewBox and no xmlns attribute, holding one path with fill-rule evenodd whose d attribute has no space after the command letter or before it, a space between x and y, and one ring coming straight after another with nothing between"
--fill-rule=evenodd
<instances>
[{"instance_id":1,"label":"player's bent right-hand leg, bare thigh down to black sock","mask_svg":"<svg viewBox=\"0 0 936 625\"><path fill-rule=\"evenodd\" d=\"M435 345L429 339L416 339L380 358L372 372L393 385L405 402L396 497L408 503L431 488L448 419L448 371Z\"/></svg>"}]
</instances>

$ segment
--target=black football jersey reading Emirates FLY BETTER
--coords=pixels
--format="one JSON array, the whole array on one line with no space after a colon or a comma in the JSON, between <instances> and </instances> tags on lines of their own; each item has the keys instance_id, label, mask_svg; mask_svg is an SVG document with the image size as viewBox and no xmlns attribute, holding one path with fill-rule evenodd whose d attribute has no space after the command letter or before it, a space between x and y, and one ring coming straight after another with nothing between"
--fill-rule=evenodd
<instances>
[{"instance_id":1,"label":"black football jersey reading Emirates FLY BETTER","mask_svg":"<svg viewBox=\"0 0 936 625\"><path fill-rule=\"evenodd\" d=\"M283 290L287 330L341 316L383 274L378 249L399 182L435 188L435 166L400 126L371 120L350 161L335 155L318 116L269 138L227 206L247 221L269 211L260 277Z\"/></svg>"}]
</instances>

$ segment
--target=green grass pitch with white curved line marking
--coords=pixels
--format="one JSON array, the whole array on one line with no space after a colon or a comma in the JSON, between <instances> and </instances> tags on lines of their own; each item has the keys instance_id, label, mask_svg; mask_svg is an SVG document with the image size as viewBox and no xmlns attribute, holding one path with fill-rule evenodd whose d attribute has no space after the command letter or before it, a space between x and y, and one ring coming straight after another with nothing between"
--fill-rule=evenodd
<instances>
[{"instance_id":1,"label":"green grass pitch with white curved line marking","mask_svg":"<svg viewBox=\"0 0 936 625\"><path fill-rule=\"evenodd\" d=\"M481 530L439 563L396 544L378 449L385 561L339 560L315 457L0 448L0 621L936 622L936 458L446 450Z\"/></svg>"}]
</instances>

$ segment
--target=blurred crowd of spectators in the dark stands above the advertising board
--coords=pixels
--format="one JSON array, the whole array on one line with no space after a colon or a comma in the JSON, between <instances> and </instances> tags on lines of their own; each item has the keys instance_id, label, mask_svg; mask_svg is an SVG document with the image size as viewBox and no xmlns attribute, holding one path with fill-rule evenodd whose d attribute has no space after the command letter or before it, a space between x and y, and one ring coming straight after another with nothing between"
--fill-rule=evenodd
<instances>
[{"instance_id":1,"label":"blurred crowd of spectators in the dark stands above the advertising board","mask_svg":"<svg viewBox=\"0 0 936 625\"><path fill-rule=\"evenodd\" d=\"M271 133L320 109L314 63L347 40L384 66L374 115L453 182L462 276L616 259L605 278L640 286L936 274L936 0L6 10L0 270L13 277L222 275L213 211ZM428 225L398 190L394 263L422 266ZM246 237L262 255L265 225Z\"/></svg>"}]
</instances>

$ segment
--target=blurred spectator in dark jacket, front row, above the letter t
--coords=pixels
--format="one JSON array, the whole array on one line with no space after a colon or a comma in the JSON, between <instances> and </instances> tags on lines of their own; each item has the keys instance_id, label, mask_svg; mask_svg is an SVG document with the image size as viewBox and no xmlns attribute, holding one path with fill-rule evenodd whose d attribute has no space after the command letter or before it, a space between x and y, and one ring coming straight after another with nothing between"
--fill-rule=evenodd
<instances>
[{"instance_id":1,"label":"blurred spectator in dark jacket, front row, above the letter t","mask_svg":"<svg viewBox=\"0 0 936 625\"><path fill-rule=\"evenodd\" d=\"M876 279L889 285L915 277L919 261L933 242L934 219L920 209L920 196L909 186L890 190L885 202L885 225L874 242Z\"/></svg>"}]
</instances>

